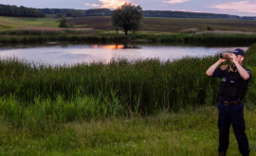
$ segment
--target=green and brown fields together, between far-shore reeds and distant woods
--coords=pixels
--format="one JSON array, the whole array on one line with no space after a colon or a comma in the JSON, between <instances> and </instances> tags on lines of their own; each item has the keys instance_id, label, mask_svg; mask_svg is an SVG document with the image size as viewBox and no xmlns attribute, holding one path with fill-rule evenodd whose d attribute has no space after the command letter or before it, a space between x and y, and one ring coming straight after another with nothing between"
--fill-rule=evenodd
<instances>
[{"instance_id":1,"label":"green and brown fields together, between far-shore reeds and distant woods","mask_svg":"<svg viewBox=\"0 0 256 156\"><path fill-rule=\"evenodd\" d=\"M31 27L58 28L59 19L24 18L0 16L0 31L17 30ZM95 30L115 31L111 24L111 17L82 17L68 19L74 28L93 28ZM208 26L214 30L256 32L255 21L218 20L218 19L189 19L189 18L160 18L144 17L141 31L177 33L187 30L207 31ZM120 31L121 32L121 31Z\"/></svg>"}]
</instances>

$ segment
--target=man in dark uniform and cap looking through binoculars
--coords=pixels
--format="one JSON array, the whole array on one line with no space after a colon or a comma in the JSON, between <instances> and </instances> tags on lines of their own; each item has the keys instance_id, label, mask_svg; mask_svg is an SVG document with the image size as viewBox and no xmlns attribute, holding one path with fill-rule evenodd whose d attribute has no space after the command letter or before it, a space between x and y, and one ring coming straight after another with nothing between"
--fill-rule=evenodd
<instances>
[{"instance_id":1,"label":"man in dark uniform and cap looking through binoculars","mask_svg":"<svg viewBox=\"0 0 256 156\"><path fill-rule=\"evenodd\" d=\"M247 92L247 83L251 78L251 72L243 61L246 53L238 48L232 53L226 53L228 59L221 58L210 66L206 74L210 77L221 78L219 85L219 101L217 108L219 128L219 156L225 156L229 148L229 128L232 125L234 134L243 156L249 155L246 124L244 119L244 103L242 101ZM218 66L224 61L231 61L230 67Z\"/></svg>"}]
</instances>

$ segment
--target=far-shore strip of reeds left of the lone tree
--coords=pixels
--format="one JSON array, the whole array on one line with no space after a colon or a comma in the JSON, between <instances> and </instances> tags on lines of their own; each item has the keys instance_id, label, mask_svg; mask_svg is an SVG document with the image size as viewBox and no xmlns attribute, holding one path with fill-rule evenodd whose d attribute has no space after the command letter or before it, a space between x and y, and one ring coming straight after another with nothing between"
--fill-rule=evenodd
<instances>
[{"instance_id":1,"label":"far-shore strip of reeds left of the lone tree","mask_svg":"<svg viewBox=\"0 0 256 156\"><path fill-rule=\"evenodd\" d=\"M16 32L15 32L16 33ZM19 33L19 32L18 32ZM23 32L22 32L23 33ZM21 35L0 35L0 43L46 43L46 42L76 42L76 43L124 43L131 41L131 37L127 36L109 36L95 33L88 30L72 30L68 29L64 32L24 32ZM26 35L33 33L35 35ZM45 32L44 32L45 33Z\"/></svg>"}]
</instances>

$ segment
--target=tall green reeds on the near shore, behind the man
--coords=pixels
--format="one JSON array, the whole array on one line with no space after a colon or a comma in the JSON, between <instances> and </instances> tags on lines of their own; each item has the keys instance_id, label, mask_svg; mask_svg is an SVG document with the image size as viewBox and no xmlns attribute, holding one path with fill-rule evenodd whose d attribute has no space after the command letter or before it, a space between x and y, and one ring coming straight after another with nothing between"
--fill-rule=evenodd
<instances>
[{"instance_id":1,"label":"tall green reeds on the near shore, behind the man","mask_svg":"<svg viewBox=\"0 0 256 156\"><path fill-rule=\"evenodd\" d=\"M256 44L247 51L255 71ZM157 114L212 106L217 78L205 71L216 57L161 62L125 59L73 65L49 65L16 58L0 60L1 116L17 127L49 118L52 122L106 116ZM255 78L245 98L255 104ZM30 117L28 117L30 116ZM26 121L26 122L25 122Z\"/></svg>"}]
</instances>

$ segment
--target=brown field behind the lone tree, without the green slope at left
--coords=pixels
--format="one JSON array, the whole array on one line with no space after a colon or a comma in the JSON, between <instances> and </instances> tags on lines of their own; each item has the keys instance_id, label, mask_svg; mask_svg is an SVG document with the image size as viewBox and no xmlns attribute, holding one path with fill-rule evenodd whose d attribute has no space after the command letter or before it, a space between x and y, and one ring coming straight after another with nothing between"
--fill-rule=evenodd
<instances>
[{"instance_id":1,"label":"brown field behind the lone tree, without the green slope at left","mask_svg":"<svg viewBox=\"0 0 256 156\"><path fill-rule=\"evenodd\" d=\"M92 27L101 30L115 30L111 17L82 17L68 20L74 27ZM255 21L190 19L190 18L161 18L144 17L141 31L177 33L187 30L207 31L208 26L214 30L256 32ZM121 32L121 30L120 30Z\"/></svg>"}]
</instances>

